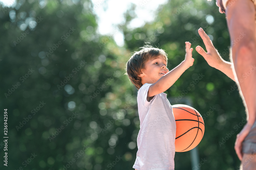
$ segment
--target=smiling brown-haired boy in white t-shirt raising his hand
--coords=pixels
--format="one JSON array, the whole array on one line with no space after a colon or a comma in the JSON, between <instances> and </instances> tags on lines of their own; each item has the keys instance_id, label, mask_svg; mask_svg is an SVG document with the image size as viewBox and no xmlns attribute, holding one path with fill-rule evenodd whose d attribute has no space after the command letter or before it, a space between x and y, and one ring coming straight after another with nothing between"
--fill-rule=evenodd
<instances>
[{"instance_id":1,"label":"smiling brown-haired boy in white t-shirt raising his hand","mask_svg":"<svg viewBox=\"0 0 256 170\"><path fill-rule=\"evenodd\" d=\"M172 106L163 93L193 65L193 48L186 44L186 56L177 67L167 69L167 54L162 49L144 46L126 63L126 74L138 89L140 131L135 170L173 170L176 123Z\"/></svg>"}]
</instances>

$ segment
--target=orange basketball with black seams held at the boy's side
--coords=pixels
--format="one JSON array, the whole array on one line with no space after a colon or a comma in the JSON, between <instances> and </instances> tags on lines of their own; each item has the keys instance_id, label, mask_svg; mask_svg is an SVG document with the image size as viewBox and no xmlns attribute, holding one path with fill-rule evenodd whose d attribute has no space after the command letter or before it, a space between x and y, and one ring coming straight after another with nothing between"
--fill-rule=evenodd
<instances>
[{"instance_id":1,"label":"orange basketball with black seams held at the boy's side","mask_svg":"<svg viewBox=\"0 0 256 170\"><path fill-rule=\"evenodd\" d=\"M185 152L195 148L205 132L205 124L200 113L185 104L172 105L176 121L175 152Z\"/></svg>"}]
</instances>

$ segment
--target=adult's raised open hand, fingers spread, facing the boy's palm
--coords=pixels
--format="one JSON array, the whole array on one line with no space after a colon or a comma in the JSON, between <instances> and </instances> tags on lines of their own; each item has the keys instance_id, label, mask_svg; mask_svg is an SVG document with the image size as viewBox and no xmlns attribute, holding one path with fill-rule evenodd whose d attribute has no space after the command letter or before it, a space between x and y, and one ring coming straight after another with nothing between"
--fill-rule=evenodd
<instances>
[{"instance_id":1,"label":"adult's raised open hand, fingers spread, facing the boy's palm","mask_svg":"<svg viewBox=\"0 0 256 170\"><path fill-rule=\"evenodd\" d=\"M205 58L205 60L211 67L218 68L220 63L223 62L223 59L219 55L216 48L213 46L209 36L205 33L205 31L202 28L199 28L198 33L205 44L207 53L201 46L197 46L196 51Z\"/></svg>"}]
</instances>

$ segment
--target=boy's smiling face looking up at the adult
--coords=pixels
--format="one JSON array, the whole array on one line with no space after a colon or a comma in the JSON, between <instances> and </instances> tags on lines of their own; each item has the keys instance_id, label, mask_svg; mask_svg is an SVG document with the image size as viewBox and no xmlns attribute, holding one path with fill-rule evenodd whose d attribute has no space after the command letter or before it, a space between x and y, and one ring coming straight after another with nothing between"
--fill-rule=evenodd
<instances>
[{"instance_id":1,"label":"boy's smiling face looking up at the adult","mask_svg":"<svg viewBox=\"0 0 256 170\"><path fill-rule=\"evenodd\" d=\"M166 68L165 57L159 55L155 58L149 59L145 63L144 69L141 70L141 83L153 84L157 82L162 76L169 72Z\"/></svg>"}]
</instances>

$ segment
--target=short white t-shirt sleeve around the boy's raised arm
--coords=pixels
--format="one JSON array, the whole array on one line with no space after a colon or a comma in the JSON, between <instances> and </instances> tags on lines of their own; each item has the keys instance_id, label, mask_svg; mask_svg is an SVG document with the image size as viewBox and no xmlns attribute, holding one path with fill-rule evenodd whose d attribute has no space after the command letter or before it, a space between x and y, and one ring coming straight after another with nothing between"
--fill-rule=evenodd
<instances>
[{"instance_id":1,"label":"short white t-shirt sleeve around the boy's raised arm","mask_svg":"<svg viewBox=\"0 0 256 170\"><path fill-rule=\"evenodd\" d=\"M140 98L143 106L145 107L148 107L148 106L152 106L154 104L154 101L155 101L155 98L156 98L156 95L153 97L153 99L151 99L150 101L147 101L147 92L148 92L148 89L149 87L151 86L152 84L148 84L148 83L145 83L143 84L143 86L141 86L141 88L138 90L138 100Z\"/></svg>"}]
</instances>

